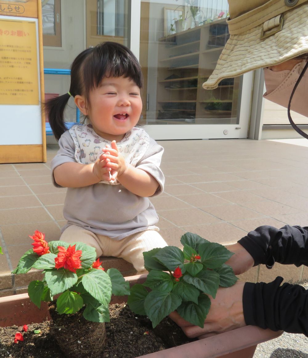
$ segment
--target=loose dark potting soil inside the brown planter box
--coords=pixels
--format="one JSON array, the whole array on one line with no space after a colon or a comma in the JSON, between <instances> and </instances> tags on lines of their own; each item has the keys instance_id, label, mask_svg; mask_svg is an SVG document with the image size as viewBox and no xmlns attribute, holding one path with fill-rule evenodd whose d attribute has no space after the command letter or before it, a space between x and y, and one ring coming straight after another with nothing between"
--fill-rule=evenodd
<instances>
[{"instance_id":1,"label":"loose dark potting soil inside the brown planter box","mask_svg":"<svg viewBox=\"0 0 308 358\"><path fill-rule=\"evenodd\" d=\"M0 357L66 357L49 333L49 321L24 324L28 325L26 333L22 331L22 326L0 327ZM35 333L34 330L41 333ZM23 334L23 342L14 343L17 332ZM132 313L124 303L110 306L110 323L106 323L106 332L105 349L100 355L96 354L96 358L135 358L191 342L169 318L153 329L146 316ZM78 344L82 344L82 341L78 341Z\"/></svg>"}]
</instances>

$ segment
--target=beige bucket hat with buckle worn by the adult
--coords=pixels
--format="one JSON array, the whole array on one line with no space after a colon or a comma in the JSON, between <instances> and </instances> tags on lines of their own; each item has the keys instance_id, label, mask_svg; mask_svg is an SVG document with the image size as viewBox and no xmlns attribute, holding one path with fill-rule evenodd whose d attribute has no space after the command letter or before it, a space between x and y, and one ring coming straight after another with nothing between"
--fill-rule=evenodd
<instances>
[{"instance_id":1,"label":"beige bucket hat with buckle worn by the adult","mask_svg":"<svg viewBox=\"0 0 308 358\"><path fill-rule=\"evenodd\" d=\"M230 38L204 89L308 53L308 0L228 0Z\"/></svg>"}]
</instances>

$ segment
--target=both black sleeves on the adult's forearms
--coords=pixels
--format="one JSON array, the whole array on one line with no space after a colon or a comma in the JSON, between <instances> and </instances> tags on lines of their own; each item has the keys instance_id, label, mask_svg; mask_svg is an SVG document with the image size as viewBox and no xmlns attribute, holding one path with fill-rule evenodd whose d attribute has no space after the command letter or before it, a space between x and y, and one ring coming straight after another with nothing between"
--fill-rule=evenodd
<instances>
[{"instance_id":1,"label":"both black sleeves on the adult's forearms","mask_svg":"<svg viewBox=\"0 0 308 358\"><path fill-rule=\"evenodd\" d=\"M238 241L255 265L271 268L275 262L308 266L308 227L286 225L281 229L261 226ZM243 312L246 324L308 337L308 291L277 277L268 284L246 282Z\"/></svg>"}]
</instances>

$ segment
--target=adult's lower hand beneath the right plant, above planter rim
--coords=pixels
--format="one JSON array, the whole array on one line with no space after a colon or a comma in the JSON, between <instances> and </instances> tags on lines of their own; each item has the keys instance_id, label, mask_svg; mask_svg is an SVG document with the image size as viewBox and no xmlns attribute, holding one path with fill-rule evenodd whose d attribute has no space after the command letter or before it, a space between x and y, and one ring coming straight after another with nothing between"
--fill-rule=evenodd
<instances>
[{"instance_id":1,"label":"adult's lower hand beneath the right plant, above planter rim","mask_svg":"<svg viewBox=\"0 0 308 358\"><path fill-rule=\"evenodd\" d=\"M185 321L176 312L169 317L179 325L189 338L207 338L212 335L227 332L246 325L243 315L243 288L244 283L237 281L231 287L219 287L215 299L211 298L211 308L204 321L204 327L194 326Z\"/></svg>"}]
</instances>

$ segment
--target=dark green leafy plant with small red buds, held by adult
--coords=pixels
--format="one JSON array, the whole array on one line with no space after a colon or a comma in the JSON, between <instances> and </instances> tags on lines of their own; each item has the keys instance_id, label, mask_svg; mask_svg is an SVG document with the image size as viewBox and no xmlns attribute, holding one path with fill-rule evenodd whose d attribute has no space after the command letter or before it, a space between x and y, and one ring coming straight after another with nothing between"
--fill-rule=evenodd
<instances>
[{"instance_id":1,"label":"dark green leafy plant with small red buds, held by adult","mask_svg":"<svg viewBox=\"0 0 308 358\"><path fill-rule=\"evenodd\" d=\"M224 264L233 255L224 246L192 233L184 234L181 243L183 251L167 246L144 252L147 280L131 288L129 308L147 315L153 327L176 310L183 319L203 328L211 305L208 295L215 298L219 286L229 287L237 281L232 268Z\"/></svg>"}]
</instances>

